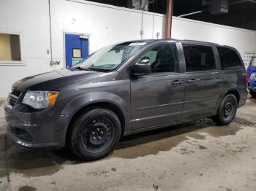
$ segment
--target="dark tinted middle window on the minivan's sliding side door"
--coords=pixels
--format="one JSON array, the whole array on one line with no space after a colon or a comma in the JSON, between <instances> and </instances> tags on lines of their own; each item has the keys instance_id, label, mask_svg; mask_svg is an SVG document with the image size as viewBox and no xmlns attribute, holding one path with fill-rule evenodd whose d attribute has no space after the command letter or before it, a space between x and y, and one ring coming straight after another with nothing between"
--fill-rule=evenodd
<instances>
[{"instance_id":1,"label":"dark tinted middle window on the minivan's sliding side door","mask_svg":"<svg viewBox=\"0 0 256 191\"><path fill-rule=\"evenodd\" d=\"M187 71L208 71L216 69L212 47L183 44Z\"/></svg>"}]
</instances>

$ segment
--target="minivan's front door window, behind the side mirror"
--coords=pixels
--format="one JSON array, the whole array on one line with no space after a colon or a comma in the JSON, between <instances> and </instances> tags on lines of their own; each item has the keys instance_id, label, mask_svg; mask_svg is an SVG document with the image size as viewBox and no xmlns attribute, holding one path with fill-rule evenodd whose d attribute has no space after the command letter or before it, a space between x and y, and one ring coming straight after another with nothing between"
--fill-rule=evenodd
<instances>
[{"instance_id":1,"label":"minivan's front door window, behind the side mirror","mask_svg":"<svg viewBox=\"0 0 256 191\"><path fill-rule=\"evenodd\" d=\"M176 44L162 44L148 50L138 62L147 59L152 73L178 72L178 52Z\"/></svg>"}]
</instances>

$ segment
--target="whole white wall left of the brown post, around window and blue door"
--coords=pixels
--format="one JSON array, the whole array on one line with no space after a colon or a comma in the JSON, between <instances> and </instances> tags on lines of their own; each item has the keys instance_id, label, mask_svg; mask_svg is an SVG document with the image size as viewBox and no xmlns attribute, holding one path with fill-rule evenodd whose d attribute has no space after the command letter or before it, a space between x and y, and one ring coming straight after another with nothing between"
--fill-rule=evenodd
<instances>
[{"instance_id":1,"label":"whole white wall left of the brown post, around window and blue door","mask_svg":"<svg viewBox=\"0 0 256 191\"><path fill-rule=\"evenodd\" d=\"M89 34L89 50L94 52L115 42L162 38L164 16L98 4L90 1L51 0L53 61L50 66L50 22L48 0L0 0L0 33L21 35L22 66L0 66L0 98L7 97L13 82L20 78L64 67L64 32ZM153 20L154 15L154 20ZM153 27L154 23L154 27ZM5 63L5 65L8 65Z\"/></svg>"}]
</instances>

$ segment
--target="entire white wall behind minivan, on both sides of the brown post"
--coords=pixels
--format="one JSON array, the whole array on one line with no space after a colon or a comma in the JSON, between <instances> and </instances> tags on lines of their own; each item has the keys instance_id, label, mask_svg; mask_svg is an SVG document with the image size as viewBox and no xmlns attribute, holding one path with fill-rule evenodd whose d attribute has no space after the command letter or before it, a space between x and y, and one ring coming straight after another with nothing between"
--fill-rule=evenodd
<instances>
[{"instance_id":1,"label":"entire white wall behind minivan, on both sides of the brown post","mask_svg":"<svg viewBox=\"0 0 256 191\"><path fill-rule=\"evenodd\" d=\"M18 79L64 67L64 33L88 34L91 53L115 42L157 39L157 32L162 38L164 31L165 15L152 12L83 0L50 0L49 15L48 0L0 0L0 33L20 34L22 52L21 65L0 63L0 98L7 97ZM246 50L256 50L255 31L173 17L172 34L176 39L231 45L242 56ZM60 65L50 65L50 52Z\"/></svg>"}]
</instances>

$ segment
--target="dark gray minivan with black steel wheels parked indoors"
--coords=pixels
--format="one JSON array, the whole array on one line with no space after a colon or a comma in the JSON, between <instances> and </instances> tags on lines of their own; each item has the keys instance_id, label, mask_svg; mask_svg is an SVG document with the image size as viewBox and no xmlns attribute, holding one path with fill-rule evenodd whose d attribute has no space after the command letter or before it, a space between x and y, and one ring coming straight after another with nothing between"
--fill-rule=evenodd
<instances>
[{"instance_id":1,"label":"dark gray minivan with black steel wheels parked indoors","mask_svg":"<svg viewBox=\"0 0 256 191\"><path fill-rule=\"evenodd\" d=\"M201 117L227 125L246 96L244 63L233 47L140 40L104 47L71 69L20 79L4 110L18 144L67 145L94 160L132 133Z\"/></svg>"}]
</instances>

